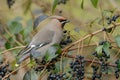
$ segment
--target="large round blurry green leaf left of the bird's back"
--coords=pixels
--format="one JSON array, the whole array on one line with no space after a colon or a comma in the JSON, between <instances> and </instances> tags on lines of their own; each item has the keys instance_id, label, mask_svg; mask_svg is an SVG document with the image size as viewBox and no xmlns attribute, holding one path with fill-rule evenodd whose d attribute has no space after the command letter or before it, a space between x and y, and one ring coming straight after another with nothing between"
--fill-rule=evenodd
<instances>
[{"instance_id":1,"label":"large round blurry green leaf left of the bird's back","mask_svg":"<svg viewBox=\"0 0 120 80\"><path fill-rule=\"evenodd\" d=\"M22 24L16 21L12 21L8 26L10 32L13 34L18 34L22 30Z\"/></svg>"}]
</instances>

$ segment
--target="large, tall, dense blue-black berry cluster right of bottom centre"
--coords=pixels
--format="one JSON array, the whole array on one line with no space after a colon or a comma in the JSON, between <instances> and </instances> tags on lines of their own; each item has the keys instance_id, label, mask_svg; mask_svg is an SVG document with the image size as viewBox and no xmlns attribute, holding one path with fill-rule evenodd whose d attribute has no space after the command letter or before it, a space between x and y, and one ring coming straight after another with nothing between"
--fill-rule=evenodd
<instances>
[{"instance_id":1,"label":"large, tall, dense blue-black berry cluster right of bottom centre","mask_svg":"<svg viewBox=\"0 0 120 80\"><path fill-rule=\"evenodd\" d=\"M83 80L84 78L84 65L85 60L82 56L77 56L75 61L70 63L70 68L72 69L72 80Z\"/></svg>"}]
</instances>

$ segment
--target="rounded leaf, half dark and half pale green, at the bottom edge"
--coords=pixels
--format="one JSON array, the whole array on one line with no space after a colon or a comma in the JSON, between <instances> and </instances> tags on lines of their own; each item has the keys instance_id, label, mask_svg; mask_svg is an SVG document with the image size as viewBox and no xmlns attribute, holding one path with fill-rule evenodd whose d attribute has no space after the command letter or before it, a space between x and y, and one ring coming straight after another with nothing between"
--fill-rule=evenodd
<instances>
[{"instance_id":1,"label":"rounded leaf, half dark and half pale green, at the bottom edge","mask_svg":"<svg viewBox=\"0 0 120 80\"><path fill-rule=\"evenodd\" d=\"M37 80L38 75L34 70L29 70L25 73L23 80Z\"/></svg>"}]
</instances>

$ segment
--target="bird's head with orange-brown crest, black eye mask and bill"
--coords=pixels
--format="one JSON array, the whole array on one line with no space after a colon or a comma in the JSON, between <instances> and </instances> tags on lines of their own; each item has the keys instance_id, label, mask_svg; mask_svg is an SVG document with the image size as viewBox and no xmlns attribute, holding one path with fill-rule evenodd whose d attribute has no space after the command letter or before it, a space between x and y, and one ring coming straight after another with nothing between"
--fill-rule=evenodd
<instances>
[{"instance_id":1,"label":"bird's head with orange-brown crest, black eye mask and bill","mask_svg":"<svg viewBox=\"0 0 120 80\"><path fill-rule=\"evenodd\" d=\"M70 21L68 21L66 18L62 17L62 16L51 16L50 19L53 19L54 21L56 21L56 23L60 24L60 26L63 28L64 25Z\"/></svg>"}]
</instances>

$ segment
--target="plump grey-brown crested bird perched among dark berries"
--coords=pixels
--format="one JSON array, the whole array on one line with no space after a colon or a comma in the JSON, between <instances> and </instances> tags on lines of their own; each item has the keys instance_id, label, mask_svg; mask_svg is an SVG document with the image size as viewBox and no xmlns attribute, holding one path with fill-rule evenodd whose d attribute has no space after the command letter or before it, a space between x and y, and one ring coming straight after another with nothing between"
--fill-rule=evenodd
<instances>
[{"instance_id":1,"label":"plump grey-brown crested bird perched among dark berries","mask_svg":"<svg viewBox=\"0 0 120 80\"><path fill-rule=\"evenodd\" d=\"M35 34L31 42L18 53L19 60L17 64L20 64L24 60L33 56L38 56L42 59L45 56L45 52L53 44L60 44L63 38L63 28L69 21L63 16L50 16L46 18L49 22L42 26L42 28ZM45 19L45 20L46 20ZM38 25L39 26L39 25Z\"/></svg>"}]
</instances>

